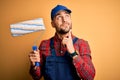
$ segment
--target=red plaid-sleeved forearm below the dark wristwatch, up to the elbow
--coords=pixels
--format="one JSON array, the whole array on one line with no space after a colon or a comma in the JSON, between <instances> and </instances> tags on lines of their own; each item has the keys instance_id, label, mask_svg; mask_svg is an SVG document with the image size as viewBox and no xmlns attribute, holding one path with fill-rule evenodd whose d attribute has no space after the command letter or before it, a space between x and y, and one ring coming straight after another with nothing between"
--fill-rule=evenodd
<instances>
[{"instance_id":1,"label":"red plaid-sleeved forearm below the dark wristwatch, up to the elbow","mask_svg":"<svg viewBox=\"0 0 120 80\"><path fill-rule=\"evenodd\" d=\"M84 59L86 59L86 61ZM81 56L75 57L73 60L74 66L82 79L93 80L95 76L95 68L89 58L84 59Z\"/></svg>"}]
</instances>

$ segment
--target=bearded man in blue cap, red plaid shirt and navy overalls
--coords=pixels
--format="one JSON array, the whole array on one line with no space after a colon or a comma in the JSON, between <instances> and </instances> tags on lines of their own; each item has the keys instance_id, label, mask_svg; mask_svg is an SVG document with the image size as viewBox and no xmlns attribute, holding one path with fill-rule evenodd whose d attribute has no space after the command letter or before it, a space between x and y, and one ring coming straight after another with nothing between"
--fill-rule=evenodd
<instances>
[{"instance_id":1,"label":"bearded man in blue cap, red plaid shirt and navy overalls","mask_svg":"<svg viewBox=\"0 0 120 80\"><path fill-rule=\"evenodd\" d=\"M71 10L57 5L51 11L55 36L41 42L30 53L30 74L34 80L93 80L95 68L87 41L72 34ZM38 66L35 65L38 62Z\"/></svg>"}]
</instances>

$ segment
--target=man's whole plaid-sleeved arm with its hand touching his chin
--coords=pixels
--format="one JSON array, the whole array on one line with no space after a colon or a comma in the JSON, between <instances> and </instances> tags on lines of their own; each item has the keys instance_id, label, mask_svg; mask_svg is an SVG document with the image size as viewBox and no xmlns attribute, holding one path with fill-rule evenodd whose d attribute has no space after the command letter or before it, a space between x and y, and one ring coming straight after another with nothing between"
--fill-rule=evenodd
<instances>
[{"instance_id":1,"label":"man's whole plaid-sleeved arm with its hand touching his chin","mask_svg":"<svg viewBox=\"0 0 120 80\"><path fill-rule=\"evenodd\" d=\"M73 64L79 74L84 80L93 80L95 76L95 68L91 60L91 52L89 45L86 41L79 39L76 42L76 46L73 45L71 31L68 33L68 37L64 37L62 40L63 45L66 45L67 51L72 54L75 50L78 50L78 55L73 57Z\"/></svg>"}]
</instances>

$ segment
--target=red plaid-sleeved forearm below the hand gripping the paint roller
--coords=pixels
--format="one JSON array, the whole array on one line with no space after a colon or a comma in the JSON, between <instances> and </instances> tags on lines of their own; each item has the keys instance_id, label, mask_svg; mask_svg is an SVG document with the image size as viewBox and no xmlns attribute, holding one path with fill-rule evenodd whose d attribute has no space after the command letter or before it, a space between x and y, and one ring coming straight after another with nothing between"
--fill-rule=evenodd
<instances>
[{"instance_id":1,"label":"red plaid-sleeved forearm below the hand gripping the paint roller","mask_svg":"<svg viewBox=\"0 0 120 80\"><path fill-rule=\"evenodd\" d=\"M30 67L30 74L33 77L34 80L39 80L41 78L41 68L37 66Z\"/></svg>"}]
</instances>

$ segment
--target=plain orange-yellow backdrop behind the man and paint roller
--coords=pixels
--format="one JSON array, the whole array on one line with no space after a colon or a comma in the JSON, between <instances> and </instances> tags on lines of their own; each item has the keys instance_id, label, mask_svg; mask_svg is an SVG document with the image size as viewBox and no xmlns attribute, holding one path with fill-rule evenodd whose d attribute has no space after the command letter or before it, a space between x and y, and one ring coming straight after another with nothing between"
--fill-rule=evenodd
<instances>
[{"instance_id":1,"label":"plain orange-yellow backdrop behind the man and paint roller","mask_svg":"<svg viewBox=\"0 0 120 80\"><path fill-rule=\"evenodd\" d=\"M0 80L32 80L28 54L34 40L54 35L50 11L72 10L73 34L89 42L95 80L120 80L120 0L0 0ZM13 37L10 24L43 18L46 31Z\"/></svg>"}]
</instances>

